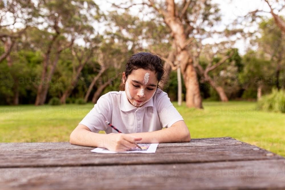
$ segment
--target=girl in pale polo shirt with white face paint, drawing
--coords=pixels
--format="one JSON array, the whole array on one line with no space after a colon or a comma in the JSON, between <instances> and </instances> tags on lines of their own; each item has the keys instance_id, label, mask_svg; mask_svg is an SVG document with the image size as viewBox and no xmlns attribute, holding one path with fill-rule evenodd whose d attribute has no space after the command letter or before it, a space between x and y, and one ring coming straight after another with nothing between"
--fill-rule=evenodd
<instances>
[{"instance_id":1,"label":"girl in pale polo shirt with white face paint, drawing","mask_svg":"<svg viewBox=\"0 0 285 190\"><path fill-rule=\"evenodd\" d=\"M101 96L70 134L70 143L111 151L135 148L135 143L190 142L189 130L167 93L160 57L139 52L128 60L120 91ZM110 122L122 133L108 126ZM166 129L161 130L166 127ZM99 130L106 134L99 134Z\"/></svg>"}]
</instances>

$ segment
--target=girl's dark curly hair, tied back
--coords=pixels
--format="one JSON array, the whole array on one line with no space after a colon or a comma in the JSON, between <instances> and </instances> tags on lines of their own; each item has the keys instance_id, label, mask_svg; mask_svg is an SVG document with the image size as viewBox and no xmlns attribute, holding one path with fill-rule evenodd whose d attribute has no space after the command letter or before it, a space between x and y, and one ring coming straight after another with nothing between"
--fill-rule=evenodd
<instances>
[{"instance_id":1,"label":"girl's dark curly hair, tied back","mask_svg":"<svg viewBox=\"0 0 285 190\"><path fill-rule=\"evenodd\" d=\"M163 60L158 55L151 54L149 52L139 52L132 55L131 58L128 60L127 64L125 65L124 72L126 75L126 80L133 70L141 68L145 70L154 71L158 83L160 81L164 81L164 74L166 73L166 71L163 68L162 61ZM157 88L161 89L159 85L157 85ZM123 81L121 81L119 90L125 91L125 84L123 83Z\"/></svg>"}]
</instances>

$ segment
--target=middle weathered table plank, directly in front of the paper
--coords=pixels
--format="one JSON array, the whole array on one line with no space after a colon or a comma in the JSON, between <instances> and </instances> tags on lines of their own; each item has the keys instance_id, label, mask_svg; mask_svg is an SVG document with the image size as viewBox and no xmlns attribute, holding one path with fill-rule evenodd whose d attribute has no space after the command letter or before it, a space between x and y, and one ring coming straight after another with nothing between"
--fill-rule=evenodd
<instances>
[{"instance_id":1,"label":"middle weathered table plank, directly in front of the paper","mask_svg":"<svg viewBox=\"0 0 285 190\"><path fill-rule=\"evenodd\" d=\"M0 167L102 166L284 159L249 144L160 147L154 154L101 154L88 149L1 151ZM266 156L270 154L270 156Z\"/></svg>"}]
</instances>

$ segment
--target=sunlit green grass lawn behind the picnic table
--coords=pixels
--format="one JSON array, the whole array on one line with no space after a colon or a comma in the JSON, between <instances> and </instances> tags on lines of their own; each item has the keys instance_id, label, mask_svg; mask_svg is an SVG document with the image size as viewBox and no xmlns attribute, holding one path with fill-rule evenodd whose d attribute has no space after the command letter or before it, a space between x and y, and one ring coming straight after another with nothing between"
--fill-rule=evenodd
<instances>
[{"instance_id":1,"label":"sunlit green grass lawn behind the picnic table","mask_svg":"<svg viewBox=\"0 0 285 190\"><path fill-rule=\"evenodd\" d=\"M181 107L191 138L231 136L285 156L285 115L255 110L245 101L203 102L204 110ZM93 104L0 106L0 142L69 141Z\"/></svg>"}]
</instances>

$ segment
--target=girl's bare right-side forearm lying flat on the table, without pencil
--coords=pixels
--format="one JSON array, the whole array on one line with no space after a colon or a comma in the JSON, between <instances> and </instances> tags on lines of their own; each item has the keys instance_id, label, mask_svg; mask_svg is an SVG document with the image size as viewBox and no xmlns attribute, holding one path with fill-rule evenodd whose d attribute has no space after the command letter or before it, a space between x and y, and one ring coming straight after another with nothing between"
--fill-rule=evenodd
<instances>
[{"instance_id":1,"label":"girl's bare right-side forearm lying flat on the table, without pencil","mask_svg":"<svg viewBox=\"0 0 285 190\"><path fill-rule=\"evenodd\" d=\"M167 143L167 142L190 142L190 132L183 120L175 122L171 127L163 130L132 133L142 140L137 143Z\"/></svg>"}]
</instances>

